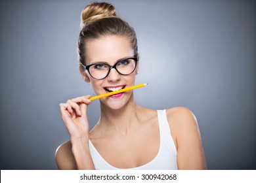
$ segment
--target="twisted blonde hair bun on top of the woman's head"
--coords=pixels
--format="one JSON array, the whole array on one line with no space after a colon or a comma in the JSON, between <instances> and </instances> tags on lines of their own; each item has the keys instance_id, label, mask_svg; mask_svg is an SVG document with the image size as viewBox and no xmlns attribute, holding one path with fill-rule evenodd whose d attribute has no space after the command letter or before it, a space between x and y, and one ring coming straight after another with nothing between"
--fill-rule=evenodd
<instances>
[{"instance_id":1,"label":"twisted blonde hair bun on top of the woman's head","mask_svg":"<svg viewBox=\"0 0 256 183\"><path fill-rule=\"evenodd\" d=\"M116 17L116 8L110 3L91 3L81 12L81 27L102 18Z\"/></svg>"}]
</instances>

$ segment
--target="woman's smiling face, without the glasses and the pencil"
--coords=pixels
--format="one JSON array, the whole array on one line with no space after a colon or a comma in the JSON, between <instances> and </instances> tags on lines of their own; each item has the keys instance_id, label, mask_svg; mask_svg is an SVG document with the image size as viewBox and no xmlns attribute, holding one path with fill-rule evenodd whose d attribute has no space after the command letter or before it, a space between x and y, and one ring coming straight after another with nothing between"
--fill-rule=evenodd
<instances>
[{"instance_id":1,"label":"woman's smiling face, without the glasses and the pencil","mask_svg":"<svg viewBox=\"0 0 256 183\"><path fill-rule=\"evenodd\" d=\"M87 65L93 63L107 63L108 65L114 65L117 60L122 58L129 58L134 56L131 43L128 39L116 35L106 35L99 39L91 39L86 44ZM106 78L102 80L96 80L88 71L87 77L91 81L93 89L96 95L107 93L113 90L120 90L121 88L127 88L135 85L135 75L138 67L131 75L120 75L116 69L111 69ZM119 93L109 97L103 97L100 99L104 105L118 109L123 107L127 101L131 98L132 91Z\"/></svg>"}]
</instances>

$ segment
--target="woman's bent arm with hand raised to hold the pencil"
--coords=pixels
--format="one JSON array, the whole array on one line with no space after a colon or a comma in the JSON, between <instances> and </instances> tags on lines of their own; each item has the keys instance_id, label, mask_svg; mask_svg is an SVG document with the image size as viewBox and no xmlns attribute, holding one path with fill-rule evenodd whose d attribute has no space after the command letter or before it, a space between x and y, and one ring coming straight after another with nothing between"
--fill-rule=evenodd
<instances>
[{"instance_id":1,"label":"woman's bent arm with hand raised to hold the pencil","mask_svg":"<svg viewBox=\"0 0 256 183\"><path fill-rule=\"evenodd\" d=\"M89 122L87 105L90 95L77 97L60 104L62 120L68 129L71 141L56 150L58 169L95 169L89 150Z\"/></svg>"}]
</instances>

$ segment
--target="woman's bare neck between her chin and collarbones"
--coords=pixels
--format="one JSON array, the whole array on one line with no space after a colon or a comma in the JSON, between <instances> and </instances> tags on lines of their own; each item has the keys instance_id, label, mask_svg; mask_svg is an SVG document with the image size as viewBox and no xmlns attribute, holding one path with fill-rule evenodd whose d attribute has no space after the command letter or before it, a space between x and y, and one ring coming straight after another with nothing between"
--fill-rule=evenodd
<instances>
[{"instance_id":1,"label":"woman's bare neck between her chin and collarbones","mask_svg":"<svg viewBox=\"0 0 256 183\"><path fill-rule=\"evenodd\" d=\"M100 103L100 109L98 126L104 133L127 135L139 122L137 105L134 102L133 95L122 108L112 109Z\"/></svg>"}]
</instances>

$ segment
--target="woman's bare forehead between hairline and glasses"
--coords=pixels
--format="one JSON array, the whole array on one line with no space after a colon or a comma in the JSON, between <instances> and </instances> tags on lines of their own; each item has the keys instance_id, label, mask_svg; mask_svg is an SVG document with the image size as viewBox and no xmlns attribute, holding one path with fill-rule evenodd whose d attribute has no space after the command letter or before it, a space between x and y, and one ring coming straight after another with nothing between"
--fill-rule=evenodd
<instances>
[{"instance_id":1,"label":"woman's bare forehead between hairline and glasses","mask_svg":"<svg viewBox=\"0 0 256 183\"><path fill-rule=\"evenodd\" d=\"M117 59L133 56L131 42L126 37L106 35L91 39L85 45L87 64L95 61L106 61L110 64Z\"/></svg>"}]
</instances>

